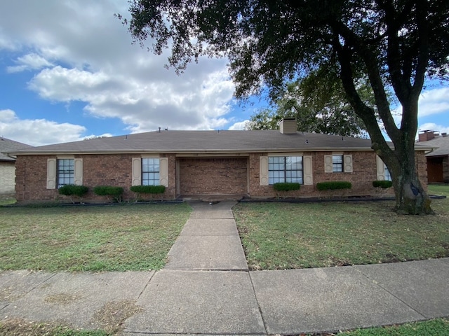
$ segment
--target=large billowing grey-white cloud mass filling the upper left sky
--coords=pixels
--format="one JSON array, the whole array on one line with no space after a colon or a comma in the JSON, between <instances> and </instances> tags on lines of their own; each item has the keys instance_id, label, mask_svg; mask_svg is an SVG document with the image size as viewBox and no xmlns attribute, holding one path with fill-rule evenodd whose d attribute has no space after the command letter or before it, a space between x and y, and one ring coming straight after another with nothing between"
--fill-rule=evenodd
<instances>
[{"instance_id":1,"label":"large billowing grey-white cloud mass filling the upper left sky","mask_svg":"<svg viewBox=\"0 0 449 336\"><path fill-rule=\"evenodd\" d=\"M177 76L164 68L168 54L133 45L114 13L128 15L126 1L1 3L0 29L23 52L8 71L33 69L28 87L42 99L84 102L86 116L119 118L130 132L229 125L234 84L225 59L204 57Z\"/></svg>"}]
</instances>

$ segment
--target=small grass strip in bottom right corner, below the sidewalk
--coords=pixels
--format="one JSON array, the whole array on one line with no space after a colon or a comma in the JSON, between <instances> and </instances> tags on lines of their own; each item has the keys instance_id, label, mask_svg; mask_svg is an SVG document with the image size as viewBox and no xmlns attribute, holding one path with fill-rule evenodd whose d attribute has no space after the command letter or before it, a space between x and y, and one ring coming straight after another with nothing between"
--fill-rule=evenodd
<instances>
[{"instance_id":1,"label":"small grass strip in bottom right corner, below the sidewalk","mask_svg":"<svg viewBox=\"0 0 449 336\"><path fill-rule=\"evenodd\" d=\"M342 332L344 336L448 336L449 320L436 320L406 323L389 327L368 328Z\"/></svg>"}]
</instances>

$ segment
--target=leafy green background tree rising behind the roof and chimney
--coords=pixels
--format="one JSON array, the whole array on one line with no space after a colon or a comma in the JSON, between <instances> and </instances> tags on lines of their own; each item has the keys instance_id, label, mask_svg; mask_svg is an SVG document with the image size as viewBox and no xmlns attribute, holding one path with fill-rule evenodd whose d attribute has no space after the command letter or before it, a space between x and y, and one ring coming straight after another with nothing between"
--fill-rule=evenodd
<instances>
[{"instance_id":1,"label":"leafy green background tree rising behind the roof and chimney","mask_svg":"<svg viewBox=\"0 0 449 336\"><path fill-rule=\"evenodd\" d=\"M361 97L375 109L373 90L366 80L359 87ZM260 109L247 124L250 130L276 130L282 118L296 118L297 130L344 137L366 137L367 132L351 104L340 78L332 69L321 66L304 78L287 83L272 109Z\"/></svg>"}]
</instances>

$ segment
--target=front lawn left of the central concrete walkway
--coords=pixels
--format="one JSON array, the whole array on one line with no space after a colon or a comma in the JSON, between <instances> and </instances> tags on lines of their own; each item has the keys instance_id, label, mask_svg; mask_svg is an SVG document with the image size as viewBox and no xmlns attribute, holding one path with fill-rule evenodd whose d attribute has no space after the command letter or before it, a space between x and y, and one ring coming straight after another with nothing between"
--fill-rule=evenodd
<instances>
[{"instance_id":1,"label":"front lawn left of the central concrete walkway","mask_svg":"<svg viewBox=\"0 0 449 336\"><path fill-rule=\"evenodd\" d=\"M0 207L0 269L161 269L188 204Z\"/></svg>"}]
</instances>

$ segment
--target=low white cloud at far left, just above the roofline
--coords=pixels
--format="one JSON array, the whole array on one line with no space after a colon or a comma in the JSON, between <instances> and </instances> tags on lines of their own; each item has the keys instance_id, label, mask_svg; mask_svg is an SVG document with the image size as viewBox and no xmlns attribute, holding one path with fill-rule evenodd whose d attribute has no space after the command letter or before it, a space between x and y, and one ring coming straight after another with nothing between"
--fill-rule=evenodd
<instances>
[{"instance_id":1,"label":"low white cloud at far left, just above the roofline","mask_svg":"<svg viewBox=\"0 0 449 336\"><path fill-rule=\"evenodd\" d=\"M0 111L0 134L32 146L79 141L86 127L44 119L21 120L14 111Z\"/></svg>"}]
</instances>

